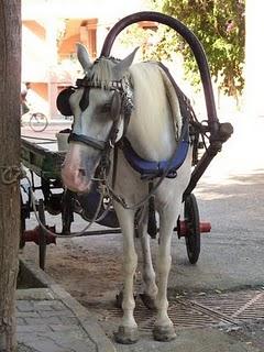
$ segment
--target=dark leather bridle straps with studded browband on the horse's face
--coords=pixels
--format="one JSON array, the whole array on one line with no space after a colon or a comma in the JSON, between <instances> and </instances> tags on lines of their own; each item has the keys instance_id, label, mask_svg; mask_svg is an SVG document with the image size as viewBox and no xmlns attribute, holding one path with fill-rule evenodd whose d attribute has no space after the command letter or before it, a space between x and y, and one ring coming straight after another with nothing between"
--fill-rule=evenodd
<instances>
[{"instance_id":1,"label":"dark leather bridle straps with studded browband on the horse's face","mask_svg":"<svg viewBox=\"0 0 264 352\"><path fill-rule=\"evenodd\" d=\"M124 130L127 130L131 111L133 109L132 90L129 84L129 79L127 77L123 77L120 80L103 82L92 81L85 77L82 79L77 79L76 87L77 88L75 89L84 88L84 94L79 102L81 111L87 109L89 105L89 90L91 88L113 91L114 94L110 111L113 124L107 141L100 141L91 136L77 133L70 133L68 141L79 142L99 151L105 151L106 148L113 147L119 133L121 117L124 121Z\"/></svg>"}]
</instances>

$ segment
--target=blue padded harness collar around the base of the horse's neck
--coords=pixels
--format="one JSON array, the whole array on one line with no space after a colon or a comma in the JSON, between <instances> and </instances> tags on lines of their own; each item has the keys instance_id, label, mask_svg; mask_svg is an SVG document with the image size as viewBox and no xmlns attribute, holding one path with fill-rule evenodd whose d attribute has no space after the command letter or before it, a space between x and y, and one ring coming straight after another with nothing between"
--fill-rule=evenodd
<instances>
[{"instance_id":1,"label":"blue padded harness collar around the base of the horse's neck","mask_svg":"<svg viewBox=\"0 0 264 352\"><path fill-rule=\"evenodd\" d=\"M130 166L134 168L138 173L141 174L141 178L152 179L155 177L161 177L164 173L167 172L168 178L174 178L177 176L177 169L183 165L189 148L189 112L187 109L188 98L184 95L184 92L176 85L168 69L161 63L158 66L167 74L175 92L179 99L179 108L180 113L184 117L184 124L182 128L182 133L179 138L179 143L174 153L174 156L168 161L161 162L151 162L142 158L136 152L133 150L127 138L122 140L122 150L124 157L129 162ZM169 167L169 170L168 170Z\"/></svg>"}]
</instances>

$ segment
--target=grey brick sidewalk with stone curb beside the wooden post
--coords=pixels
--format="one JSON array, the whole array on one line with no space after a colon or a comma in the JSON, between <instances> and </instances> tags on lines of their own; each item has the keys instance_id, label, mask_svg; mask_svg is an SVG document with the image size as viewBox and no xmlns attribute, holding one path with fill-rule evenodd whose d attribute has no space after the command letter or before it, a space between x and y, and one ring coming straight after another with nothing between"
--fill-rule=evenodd
<instances>
[{"instance_id":1,"label":"grey brick sidewalk with stone curb beside the wooden post","mask_svg":"<svg viewBox=\"0 0 264 352\"><path fill-rule=\"evenodd\" d=\"M25 268L46 287L16 290L19 352L114 351L86 308L33 264Z\"/></svg>"}]
</instances>

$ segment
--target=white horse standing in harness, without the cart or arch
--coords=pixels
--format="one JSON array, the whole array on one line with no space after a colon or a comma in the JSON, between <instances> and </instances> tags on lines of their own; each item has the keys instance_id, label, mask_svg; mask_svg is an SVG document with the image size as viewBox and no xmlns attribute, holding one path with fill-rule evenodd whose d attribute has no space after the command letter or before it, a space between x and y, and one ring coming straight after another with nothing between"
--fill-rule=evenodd
<instances>
[{"instance_id":1,"label":"white horse standing in harness, without the cart or arch","mask_svg":"<svg viewBox=\"0 0 264 352\"><path fill-rule=\"evenodd\" d=\"M156 63L132 65L135 51L123 61L99 58L92 63L86 48L77 45L78 59L85 70L85 78L77 81L77 88L69 96L69 108L74 114L73 135L66 155L62 177L67 188L76 193L89 191L95 172L105 150L125 133L133 150L146 161L161 162L172 158L177 148L182 117L176 94L168 89L169 81ZM130 116L129 124L125 119ZM128 125L127 125L128 124ZM139 224L143 250L144 294L155 304L157 316L153 328L154 339L169 341L176 337L167 315L167 283L172 263L170 240L180 212L183 193L191 170L191 147L177 177L164 177L155 189L155 207L158 212L158 252L155 275L147 230L147 202L142 206ZM142 179L118 150L114 193L129 206L141 202L150 191L150 180ZM161 176L161 175L160 175ZM109 176L110 177L110 176ZM158 182L153 180L153 187ZM139 338L133 310L133 279L138 265L134 244L136 207L124 207L113 199L114 209L123 234L124 286L122 298L123 317L116 340L133 343ZM156 277L157 276L157 277Z\"/></svg>"}]
</instances>

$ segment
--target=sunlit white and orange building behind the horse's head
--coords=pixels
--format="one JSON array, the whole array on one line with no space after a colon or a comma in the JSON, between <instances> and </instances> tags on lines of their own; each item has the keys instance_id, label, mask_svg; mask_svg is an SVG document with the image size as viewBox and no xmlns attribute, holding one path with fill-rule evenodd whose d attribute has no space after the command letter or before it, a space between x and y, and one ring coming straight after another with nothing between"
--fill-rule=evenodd
<instances>
[{"instance_id":1,"label":"sunlit white and orange building behind the horse's head","mask_svg":"<svg viewBox=\"0 0 264 352\"><path fill-rule=\"evenodd\" d=\"M22 81L31 82L29 102L56 117L57 94L81 75L76 43L96 58L112 25L143 10L150 10L143 0L22 0Z\"/></svg>"}]
</instances>

